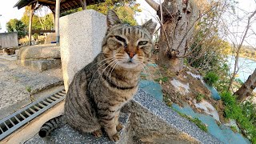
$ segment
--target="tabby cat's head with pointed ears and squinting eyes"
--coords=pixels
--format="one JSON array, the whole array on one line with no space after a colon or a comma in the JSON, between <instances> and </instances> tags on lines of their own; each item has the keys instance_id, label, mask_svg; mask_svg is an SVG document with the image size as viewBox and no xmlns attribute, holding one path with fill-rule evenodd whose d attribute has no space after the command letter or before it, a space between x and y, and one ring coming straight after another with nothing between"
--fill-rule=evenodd
<instances>
[{"instance_id":1,"label":"tabby cat's head with pointed ears and squinting eyes","mask_svg":"<svg viewBox=\"0 0 256 144\"><path fill-rule=\"evenodd\" d=\"M108 11L106 21L102 53L112 60L111 65L142 69L151 56L154 46L152 35L157 24L150 19L142 26L130 26L122 23L113 10Z\"/></svg>"}]
</instances>

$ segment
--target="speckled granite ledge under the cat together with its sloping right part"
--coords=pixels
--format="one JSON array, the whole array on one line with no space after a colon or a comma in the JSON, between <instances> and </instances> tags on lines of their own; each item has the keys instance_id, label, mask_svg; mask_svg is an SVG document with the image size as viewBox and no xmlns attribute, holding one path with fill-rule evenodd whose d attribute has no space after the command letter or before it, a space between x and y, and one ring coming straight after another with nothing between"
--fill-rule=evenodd
<instances>
[{"instance_id":1,"label":"speckled granite ledge under the cat together with its sloping right part","mask_svg":"<svg viewBox=\"0 0 256 144\"><path fill-rule=\"evenodd\" d=\"M126 130L122 131L122 139L117 143L222 143L143 90L138 90L138 94L122 112L126 113L120 118L126 124ZM129 113L130 116L127 115ZM114 142L110 142L106 134L102 138L94 138L91 134L79 133L66 125L54 130L48 138L39 138L37 134L26 143Z\"/></svg>"}]
</instances>

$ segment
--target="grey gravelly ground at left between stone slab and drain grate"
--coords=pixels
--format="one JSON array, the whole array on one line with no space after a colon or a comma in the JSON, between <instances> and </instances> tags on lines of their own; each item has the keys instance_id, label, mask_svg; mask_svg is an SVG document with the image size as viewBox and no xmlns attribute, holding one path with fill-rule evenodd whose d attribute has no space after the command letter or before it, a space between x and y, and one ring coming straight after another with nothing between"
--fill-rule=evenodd
<instances>
[{"instance_id":1,"label":"grey gravelly ground at left between stone slab and drain grate","mask_svg":"<svg viewBox=\"0 0 256 144\"><path fill-rule=\"evenodd\" d=\"M14 56L1 54L0 119L34 101L33 94L62 84L61 69L40 73L16 65Z\"/></svg>"}]
</instances>

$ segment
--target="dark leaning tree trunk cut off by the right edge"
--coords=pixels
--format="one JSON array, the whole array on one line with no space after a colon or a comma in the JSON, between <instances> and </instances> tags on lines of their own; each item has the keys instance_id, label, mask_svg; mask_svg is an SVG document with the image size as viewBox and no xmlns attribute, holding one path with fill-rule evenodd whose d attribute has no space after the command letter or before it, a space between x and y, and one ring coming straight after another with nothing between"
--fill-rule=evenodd
<instances>
[{"instance_id":1,"label":"dark leaning tree trunk cut off by the right edge","mask_svg":"<svg viewBox=\"0 0 256 144\"><path fill-rule=\"evenodd\" d=\"M248 96L250 96L256 87L256 69L254 73L249 76L246 82L239 88L234 95L238 95L238 102L243 102Z\"/></svg>"}]
</instances>

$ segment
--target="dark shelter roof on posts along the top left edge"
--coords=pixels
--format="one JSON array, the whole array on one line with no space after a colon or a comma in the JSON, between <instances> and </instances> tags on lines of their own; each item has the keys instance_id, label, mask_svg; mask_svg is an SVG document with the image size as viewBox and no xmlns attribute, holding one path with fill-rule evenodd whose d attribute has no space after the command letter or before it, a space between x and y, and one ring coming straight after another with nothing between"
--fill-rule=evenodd
<instances>
[{"instance_id":1,"label":"dark shelter roof on posts along the top left edge","mask_svg":"<svg viewBox=\"0 0 256 144\"><path fill-rule=\"evenodd\" d=\"M38 2L43 6L49 6L50 10L55 11L56 0L19 0L14 7L21 9L24 6L30 6L32 3ZM86 6L94 5L96 3L105 2L105 0L86 0ZM76 9L83 6L83 0L61 0L61 13L66 10Z\"/></svg>"}]
</instances>

